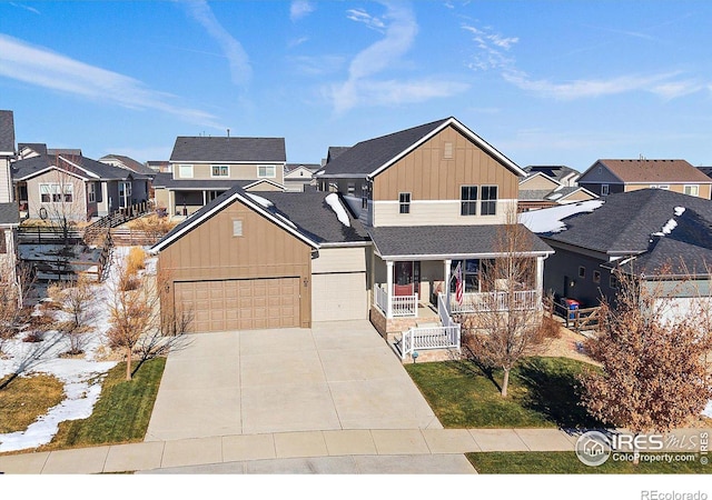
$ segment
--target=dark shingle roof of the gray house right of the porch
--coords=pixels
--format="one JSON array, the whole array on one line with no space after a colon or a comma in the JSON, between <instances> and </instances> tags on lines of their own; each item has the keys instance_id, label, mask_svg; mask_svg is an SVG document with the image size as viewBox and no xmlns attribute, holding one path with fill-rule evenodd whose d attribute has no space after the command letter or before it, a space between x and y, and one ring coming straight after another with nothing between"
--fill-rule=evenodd
<instances>
[{"instance_id":1,"label":"dark shingle roof of the gray house right of the porch","mask_svg":"<svg viewBox=\"0 0 712 500\"><path fill-rule=\"evenodd\" d=\"M545 237L604 253L640 253L649 249L651 234L674 218L675 207L691 209L712 221L710 200L662 189L641 189L609 194L600 208L564 219L566 230Z\"/></svg>"}]
</instances>

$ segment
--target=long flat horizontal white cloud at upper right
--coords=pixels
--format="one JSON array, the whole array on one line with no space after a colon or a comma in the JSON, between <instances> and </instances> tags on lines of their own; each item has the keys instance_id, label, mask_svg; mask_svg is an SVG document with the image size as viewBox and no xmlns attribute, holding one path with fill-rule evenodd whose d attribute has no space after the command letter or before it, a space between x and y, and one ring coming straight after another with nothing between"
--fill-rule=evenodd
<instances>
[{"instance_id":1,"label":"long flat horizontal white cloud at upper right","mask_svg":"<svg viewBox=\"0 0 712 500\"><path fill-rule=\"evenodd\" d=\"M679 73L660 74L624 74L600 80L574 80L566 83L554 83L550 80L532 80L522 71L505 71L503 78L522 90L534 92L541 97L574 100L596 98L632 91L646 91L673 99L702 90L704 87L690 81L674 81Z\"/></svg>"}]
</instances>

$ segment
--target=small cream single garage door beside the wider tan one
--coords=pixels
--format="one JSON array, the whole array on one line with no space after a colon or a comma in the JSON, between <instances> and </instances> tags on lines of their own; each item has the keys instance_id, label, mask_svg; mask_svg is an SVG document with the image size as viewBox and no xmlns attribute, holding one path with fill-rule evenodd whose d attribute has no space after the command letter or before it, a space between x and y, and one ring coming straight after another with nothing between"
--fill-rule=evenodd
<instances>
[{"instance_id":1,"label":"small cream single garage door beside the wider tan one","mask_svg":"<svg viewBox=\"0 0 712 500\"><path fill-rule=\"evenodd\" d=\"M366 273L312 276L312 320L367 319Z\"/></svg>"}]
</instances>

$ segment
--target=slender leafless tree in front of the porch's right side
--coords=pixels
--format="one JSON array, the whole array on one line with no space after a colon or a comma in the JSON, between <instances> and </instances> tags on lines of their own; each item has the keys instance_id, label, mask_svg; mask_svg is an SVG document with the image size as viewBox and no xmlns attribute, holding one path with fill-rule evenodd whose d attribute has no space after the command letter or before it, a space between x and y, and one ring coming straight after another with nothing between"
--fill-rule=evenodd
<instances>
[{"instance_id":1,"label":"slender leafless tree in front of the porch's right side","mask_svg":"<svg viewBox=\"0 0 712 500\"><path fill-rule=\"evenodd\" d=\"M475 312L457 318L466 356L504 371L502 397L507 397L510 372L524 357L540 351L552 334L537 302L536 259L531 256L533 234L516 223L516 214L498 231L495 248L501 257L481 268L483 293L475 296Z\"/></svg>"}]
</instances>

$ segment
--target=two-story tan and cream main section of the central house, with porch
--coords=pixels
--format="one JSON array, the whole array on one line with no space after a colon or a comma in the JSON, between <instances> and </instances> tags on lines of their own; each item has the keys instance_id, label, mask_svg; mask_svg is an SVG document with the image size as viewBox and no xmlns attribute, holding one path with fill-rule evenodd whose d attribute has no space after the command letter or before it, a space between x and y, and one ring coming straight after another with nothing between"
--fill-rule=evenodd
<instances>
[{"instance_id":1,"label":"two-story tan and cream main section of the central house, with porch","mask_svg":"<svg viewBox=\"0 0 712 500\"><path fill-rule=\"evenodd\" d=\"M496 240L516 211L525 176L455 118L359 142L317 173L317 183L336 187L373 241L370 319L384 337L415 326L431 306L442 311L458 264L465 299L463 306L451 300L447 314L475 312L483 294L500 293L479 276L505 254ZM536 309L552 250L533 237L526 253L537 272L522 300ZM444 313L441 321L448 321Z\"/></svg>"}]
</instances>

